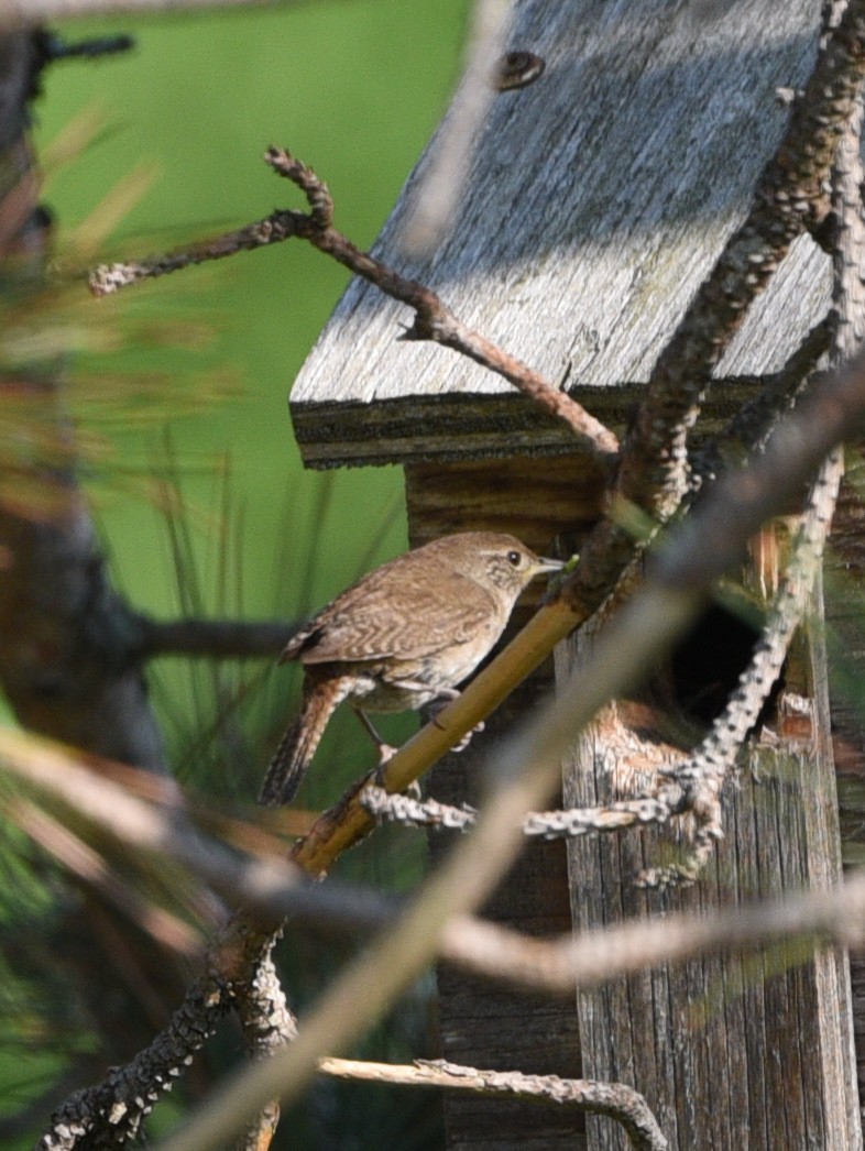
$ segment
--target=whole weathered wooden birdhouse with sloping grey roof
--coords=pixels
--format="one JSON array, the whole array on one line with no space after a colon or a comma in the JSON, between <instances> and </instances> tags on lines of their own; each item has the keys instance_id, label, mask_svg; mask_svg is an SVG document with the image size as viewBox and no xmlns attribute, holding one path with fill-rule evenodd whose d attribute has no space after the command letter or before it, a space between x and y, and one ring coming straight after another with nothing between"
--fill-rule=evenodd
<instances>
[{"instance_id":1,"label":"whole weathered wooden birdhouse with sloping grey roof","mask_svg":"<svg viewBox=\"0 0 865 1151\"><path fill-rule=\"evenodd\" d=\"M787 97L813 67L819 25L814 0L519 0L507 47L540 58L542 74L495 94L434 254L411 260L400 247L430 153L375 254L621 435L749 209L784 131ZM826 315L829 277L828 257L803 236L720 361L696 442L718 433ZM602 514L597 460L501 376L446 348L401 341L411 319L367 283L350 285L291 392L306 465L402 466L412 544L498 528L541 551L556 538L578 550ZM842 562L860 567L857 508L848 487L837 534ZM830 601L827 613L849 616L849 597ZM662 846L654 834L628 832L604 845L526 847L485 914L546 936L836 879L839 808L817 628L794 664L787 688L805 700L809 723L792 734L795 724L774 717L781 750L769 759L779 770L746 773L739 793L726 796L726 840L691 891L639 891L640 868ZM549 676L517 693L486 734L518 719ZM849 707L833 700L833 708L855 730ZM570 801L609 794L599 764L620 755L622 739L643 738L638 725L625 707L599 718L566 764ZM437 769L435 796L471 798L472 762L469 752ZM796 771L784 773L790 762ZM858 776L862 752L848 747L843 765ZM572 1001L504 993L442 970L440 996L446 1059L624 1081L646 1095L681 1151L859 1145L843 954L692 962ZM862 1036L857 1043L862 1060ZM448 1100L446 1113L450 1146L624 1145L613 1125L592 1120L576 1131L574 1115L554 1108L473 1099Z\"/></svg>"}]
</instances>

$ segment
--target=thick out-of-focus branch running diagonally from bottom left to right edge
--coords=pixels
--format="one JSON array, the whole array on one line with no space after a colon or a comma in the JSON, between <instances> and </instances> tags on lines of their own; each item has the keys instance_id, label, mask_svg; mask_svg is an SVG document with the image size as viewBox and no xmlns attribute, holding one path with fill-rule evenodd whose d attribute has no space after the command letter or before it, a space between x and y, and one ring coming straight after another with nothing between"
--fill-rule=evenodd
<instances>
[{"instance_id":1,"label":"thick out-of-focus branch running diagonally from bottom left to right edge","mask_svg":"<svg viewBox=\"0 0 865 1151\"><path fill-rule=\"evenodd\" d=\"M318 1059L343 1051L416 978L440 951L448 922L477 907L513 861L525 811L541 805L554 786L561 750L574 733L604 702L629 689L675 641L713 580L735 566L745 541L765 519L783 510L789 493L813 475L835 443L862 426L864 414L865 358L857 357L849 368L821 381L779 425L752 467L715 485L659 549L644 587L601 628L586 666L522 734L496 749L488 763L491 793L475 832L457 844L400 921L336 978L302 1020L297 1041L221 1088L219 1098L207 1100L162 1151L203 1151L225 1141L276 1092L283 1100L296 1098ZM447 723L448 712L461 707L465 707L461 700L448 704L437 723ZM388 768L404 765L426 731L397 752ZM296 857L313 869L317 860L343 849L352 840L354 820L352 815L350 822L328 823L327 840L313 843Z\"/></svg>"}]
</instances>

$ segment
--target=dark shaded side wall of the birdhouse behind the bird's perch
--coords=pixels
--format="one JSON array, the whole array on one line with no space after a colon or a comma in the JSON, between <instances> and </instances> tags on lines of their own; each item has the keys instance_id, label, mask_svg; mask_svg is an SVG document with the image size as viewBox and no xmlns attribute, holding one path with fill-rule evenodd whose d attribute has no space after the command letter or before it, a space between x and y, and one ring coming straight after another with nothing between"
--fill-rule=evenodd
<instances>
[{"instance_id":1,"label":"dark shaded side wall of the birdhouse behind the bird's perch","mask_svg":"<svg viewBox=\"0 0 865 1151\"><path fill-rule=\"evenodd\" d=\"M553 465L553 466L549 466ZM581 487L582 483L582 487ZM576 457L537 460L531 456L405 468L409 535L412 546L448 532L513 532L529 547L549 554L554 536L589 525L598 514L600 489L586 483ZM581 506L582 505L582 506ZM537 601L530 587L522 604ZM510 624L525 620L517 608ZM508 633L506 633L507 635ZM448 803L477 803L483 780L480 754L519 722L552 689L552 668L522 685L487 721L480 735L458 755L449 755L430 775L427 790ZM448 832L431 832L433 860L453 844ZM561 843L532 844L521 856L484 914L534 935L570 930L568 872ZM439 970L440 1054L454 1062L528 1074L579 1077L577 1016L572 1003L515 996L461 971ZM464 1151L579 1151L584 1116L530 1103L446 1095L448 1148ZM608 1120L601 1120L605 1125Z\"/></svg>"}]
</instances>

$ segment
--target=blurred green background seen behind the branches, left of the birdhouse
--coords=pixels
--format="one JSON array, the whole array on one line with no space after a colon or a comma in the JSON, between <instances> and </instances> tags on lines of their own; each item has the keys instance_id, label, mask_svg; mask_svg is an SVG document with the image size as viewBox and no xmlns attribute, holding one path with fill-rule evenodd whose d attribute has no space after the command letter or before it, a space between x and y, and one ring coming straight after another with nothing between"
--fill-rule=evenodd
<instances>
[{"instance_id":1,"label":"blurred green background seen behind the branches, left of the birdhouse","mask_svg":"<svg viewBox=\"0 0 865 1151\"><path fill-rule=\"evenodd\" d=\"M99 124L86 146L46 173L61 260L70 259L69 242L82 238L86 221L108 218L105 198L124 182L143 195L114 229L111 258L299 206L297 192L261 161L268 144L316 168L333 192L336 226L369 245L447 104L466 8L468 0L318 0L65 24L69 40L122 31L136 47L46 73L36 105L38 154L51 155L70 124ZM135 607L159 617L297 618L404 548L397 470L309 473L293 439L291 382L346 283L335 264L289 243L131 289L116 303L90 300L82 288L76 306L90 323L99 317L97 344L112 346L91 340L75 353L69 403L113 574ZM150 678L179 777L211 799L249 803L290 718L296 678L263 664L214 669L176 660L153 663ZM302 792L309 806L332 801L344 782L328 775L328 760L348 775L358 768L346 742L350 731L357 744L354 727L334 729L319 756L325 770L313 771ZM369 765L370 753L361 754ZM122 1041L117 1050L89 1031L86 1005L76 999L69 1007L81 989L48 970L51 916L59 913L45 895L44 864L13 832L3 837L3 886L26 895L3 902L0 925L12 939L26 931L30 950L0 958L0 1118L43 1091L56 1103L79 1085L53 1089L52 1081L82 1052L96 1067L124 1058ZM374 849L365 845L343 861L343 874L395 887L416 882L423 840L404 832L374 840ZM32 954L39 932L45 969ZM281 958L295 1003L317 993L347 950L287 940ZM81 963L83 983L86 956ZM22 978L24 967L31 981ZM109 998L109 974L96 974ZM428 984L416 989L365 1052L425 1053L418 1042L430 1032L428 992ZM145 1017L142 1034L154 1023ZM128 1035L132 1050L138 1039ZM194 1093L237 1058L237 1047L236 1035L218 1037ZM312 1102L283 1121L280 1141L290 1129L295 1148L437 1145L434 1108L402 1098L396 1105L393 1092L319 1084ZM162 1106L155 1130L168 1121ZM39 1113L32 1122L0 1126L0 1145L30 1145Z\"/></svg>"}]
</instances>

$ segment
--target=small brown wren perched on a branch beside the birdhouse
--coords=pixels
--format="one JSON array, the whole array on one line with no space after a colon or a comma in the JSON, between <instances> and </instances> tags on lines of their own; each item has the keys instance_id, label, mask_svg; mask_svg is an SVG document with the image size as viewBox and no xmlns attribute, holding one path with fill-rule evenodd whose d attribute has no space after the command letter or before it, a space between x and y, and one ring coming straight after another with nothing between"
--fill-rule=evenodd
<instances>
[{"instance_id":1,"label":"small brown wren perched on a branch beside the birdhouse","mask_svg":"<svg viewBox=\"0 0 865 1151\"><path fill-rule=\"evenodd\" d=\"M294 798L343 700L374 735L365 711L454 699L504 631L523 588L561 566L513 535L464 532L397 556L328 603L280 656L304 665L303 700L259 802L275 807Z\"/></svg>"}]
</instances>

